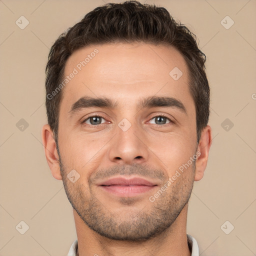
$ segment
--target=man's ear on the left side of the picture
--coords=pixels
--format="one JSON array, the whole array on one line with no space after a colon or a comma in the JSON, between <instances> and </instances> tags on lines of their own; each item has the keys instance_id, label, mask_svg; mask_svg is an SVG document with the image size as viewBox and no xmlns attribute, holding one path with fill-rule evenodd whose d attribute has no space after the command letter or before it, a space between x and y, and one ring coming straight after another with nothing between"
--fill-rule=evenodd
<instances>
[{"instance_id":1,"label":"man's ear on the left side of the picture","mask_svg":"<svg viewBox=\"0 0 256 256\"><path fill-rule=\"evenodd\" d=\"M44 153L46 160L50 167L51 174L56 179L62 179L60 173L60 166L58 161L58 152L56 148L56 143L53 138L53 132L50 129L49 124L45 124L42 127L42 143L44 146Z\"/></svg>"}]
</instances>

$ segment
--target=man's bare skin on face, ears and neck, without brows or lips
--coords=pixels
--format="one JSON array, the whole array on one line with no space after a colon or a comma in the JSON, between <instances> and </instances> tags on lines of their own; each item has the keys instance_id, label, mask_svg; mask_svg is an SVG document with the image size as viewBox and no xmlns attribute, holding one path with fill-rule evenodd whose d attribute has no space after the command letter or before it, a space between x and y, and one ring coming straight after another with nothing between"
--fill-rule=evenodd
<instances>
[{"instance_id":1,"label":"man's bare skin on face, ears and neck, without brows or lips","mask_svg":"<svg viewBox=\"0 0 256 256\"><path fill-rule=\"evenodd\" d=\"M95 48L98 53L63 88L59 112L58 149L48 124L42 128L45 155L52 176L63 181L78 239L78 253L87 255L190 255L186 238L188 199L193 181L207 164L211 128L196 142L195 104L188 89L188 69L173 47L146 43L116 43L83 47L69 57L68 75ZM178 80L169 72L182 71ZM82 96L107 97L114 108L82 108L70 116ZM180 100L178 107L137 107L149 96ZM53 99L54 100L54 99ZM88 117L99 114L100 124ZM166 115L163 123L157 116ZM131 126L123 131L118 123ZM172 120L172 121L170 121ZM86 121L82 123L82 121ZM125 124L126 125L126 124ZM197 151L200 156L152 202L175 171ZM67 174L75 169L73 183ZM136 196L103 191L98 182L109 177L144 177L155 184ZM138 254L139 253L139 254Z\"/></svg>"}]
</instances>

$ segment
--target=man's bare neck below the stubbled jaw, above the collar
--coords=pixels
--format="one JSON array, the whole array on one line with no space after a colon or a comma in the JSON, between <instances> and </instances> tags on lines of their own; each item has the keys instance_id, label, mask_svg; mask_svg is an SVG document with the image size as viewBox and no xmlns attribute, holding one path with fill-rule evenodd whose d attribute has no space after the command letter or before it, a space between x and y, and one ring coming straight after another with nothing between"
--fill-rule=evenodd
<instances>
[{"instance_id":1,"label":"man's bare neck below the stubbled jaw, above the collar","mask_svg":"<svg viewBox=\"0 0 256 256\"><path fill-rule=\"evenodd\" d=\"M164 232L143 242L112 240L90 229L73 210L78 240L78 255L190 256L186 237L187 207L184 206L172 225Z\"/></svg>"}]
</instances>

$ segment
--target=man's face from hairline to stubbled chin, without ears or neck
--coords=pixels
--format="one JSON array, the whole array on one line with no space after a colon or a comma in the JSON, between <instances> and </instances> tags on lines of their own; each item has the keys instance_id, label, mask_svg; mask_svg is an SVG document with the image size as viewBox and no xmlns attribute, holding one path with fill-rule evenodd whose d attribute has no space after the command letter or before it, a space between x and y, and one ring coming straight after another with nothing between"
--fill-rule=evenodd
<instances>
[{"instance_id":1,"label":"man's face from hairline to stubbled chin, without ears or neck","mask_svg":"<svg viewBox=\"0 0 256 256\"><path fill-rule=\"evenodd\" d=\"M95 48L98 53L79 65ZM169 74L174 67L182 71L178 79L177 69ZM103 44L75 51L64 76L74 68L58 126L70 203L84 223L112 239L143 240L166 230L187 203L195 174L196 163L189 161L197 148L195 106L185 60L164 45ZM91 106L82 97L107 98L112 105ZM182 164L183 172L169 179ZM75 182L67 177L73 169L80 175Z\"/></svg>"}]
</instances>

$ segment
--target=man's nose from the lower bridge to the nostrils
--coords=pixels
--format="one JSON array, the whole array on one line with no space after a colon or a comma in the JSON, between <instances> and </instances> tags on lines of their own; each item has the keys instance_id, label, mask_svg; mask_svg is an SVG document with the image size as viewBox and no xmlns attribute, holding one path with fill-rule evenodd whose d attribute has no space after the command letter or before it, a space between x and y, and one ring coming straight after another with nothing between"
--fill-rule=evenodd
<instances>
[{"instance_id":1,"label":"man's nose from the lower bridge to the nostrils","mask_svg":"<svg viewBox=\"0 0 256 256\"><path fill-rule=\"evenodd\" d=\"M125 122L121 124L124 124L124 127L128 125ZM135 124L131 124L127 130L126 128L123 129L121 125L116 127L116 135L111 140L109 147L110 161L122 164L146 162L149 148L143 130Z\"/></svg>"}]
</instances>

